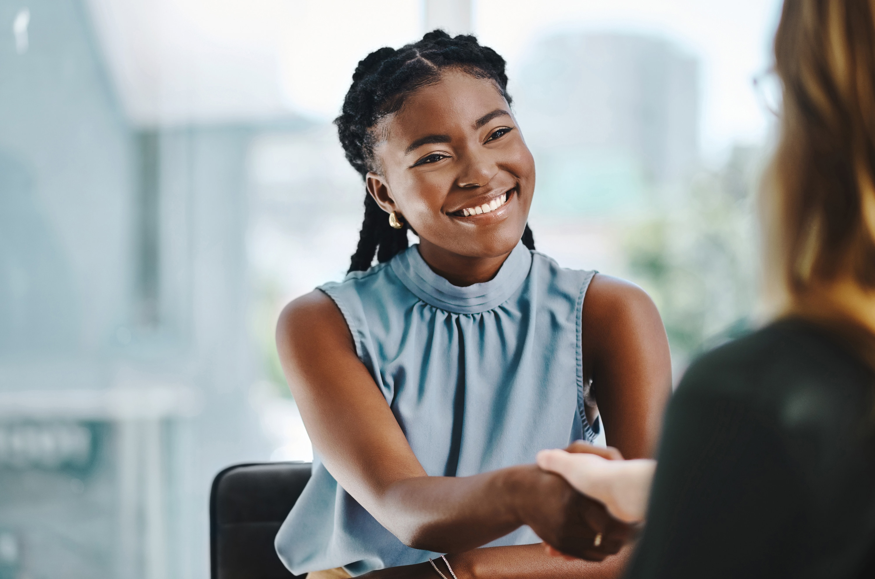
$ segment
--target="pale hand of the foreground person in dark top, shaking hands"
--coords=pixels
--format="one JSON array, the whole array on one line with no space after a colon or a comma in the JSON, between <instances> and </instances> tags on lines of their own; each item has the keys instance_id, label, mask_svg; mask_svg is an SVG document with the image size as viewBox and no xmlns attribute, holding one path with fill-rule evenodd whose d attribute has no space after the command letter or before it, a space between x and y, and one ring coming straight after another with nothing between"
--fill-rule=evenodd
<instances>
[{"instance_id":1,"label":"pale hand of the foreground person in dark top, shaking hands","mask_svg":"<svg viewBox=\"0 0 875 579\"><path fill-rule=\"evenodd\" d=\"M622 460L618 450L601 450L583 443L576 443L569 450L574 454L542 450L537 464L544 471L561 475L577 491L600 501L615 519L627 523L644 519L655 460Z\"/></svg>"}]
</instances>

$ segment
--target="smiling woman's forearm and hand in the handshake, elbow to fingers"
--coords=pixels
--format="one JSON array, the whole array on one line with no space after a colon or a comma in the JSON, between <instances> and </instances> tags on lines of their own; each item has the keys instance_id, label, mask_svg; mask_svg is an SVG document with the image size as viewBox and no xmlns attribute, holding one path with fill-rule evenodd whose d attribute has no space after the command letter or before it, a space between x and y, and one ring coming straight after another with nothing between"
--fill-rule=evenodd
<instances>
[{"instance_id":1,"label":"smiling woman's forearm and hand in the handshake, elbow to fingers","mask_svg":"<svg viewBox=\"0 0 875 579\"><path fill-rule=\"evenodd\" d=\"M528 525L556 550L600 561L617 553L631 532L535 464L472 477L403 478L377 500L371 512L381 513L384 527L409 547L437 553L463 553Z\"/></svg>"}]
</instances>

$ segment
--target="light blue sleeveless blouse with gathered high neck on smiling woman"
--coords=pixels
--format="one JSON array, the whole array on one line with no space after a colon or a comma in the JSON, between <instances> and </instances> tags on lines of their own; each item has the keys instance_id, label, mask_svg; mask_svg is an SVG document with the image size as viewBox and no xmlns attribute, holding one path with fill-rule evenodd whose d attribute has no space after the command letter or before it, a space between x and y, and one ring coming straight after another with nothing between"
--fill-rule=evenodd
<instances>
[{"instance_id":1,"label":"light blue sleeveless blouse with gathered high neck on smiling woman","mask_svg":"<svg viewBox=\"0 0 875 579\"><path fill-rule=\"evenodd\" d=\"M460 288L437 276L414 246L319 289L346 318L359 358L425 471L465 477L595 438L584 414L580 349L594 273L562 269L520 243L493 280ZM489 546L539 541L521 527ZM353 576L438 556L404 546L318 456L276 534L276 551L295 574L344 567Z\"/></svg>"}]
</instances>

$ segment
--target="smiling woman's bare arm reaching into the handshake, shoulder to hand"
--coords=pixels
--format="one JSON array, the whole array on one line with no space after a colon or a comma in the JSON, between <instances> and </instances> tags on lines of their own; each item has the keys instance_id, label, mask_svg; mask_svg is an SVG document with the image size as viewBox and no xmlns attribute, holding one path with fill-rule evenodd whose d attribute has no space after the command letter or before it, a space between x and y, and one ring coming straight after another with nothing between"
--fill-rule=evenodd
<instances>
[{"instance_id":1,"label":"smiling woman's bare arm reaching into the handshake, shoulder to hand","mask_svg":"<svg viewBox=\"0 0 875 579\"><path fill-rule=\"evenodd\" d=\"M426 476L356 355L344 318L321 291L283 310L276 344L325 467L406 545L458 553L526 524L566 553L599 560L620 549L625 526L561 477L534 465L472 477ZM605 538L595 550L591 541L597 532Z\"/></svg>"}]
</instances>

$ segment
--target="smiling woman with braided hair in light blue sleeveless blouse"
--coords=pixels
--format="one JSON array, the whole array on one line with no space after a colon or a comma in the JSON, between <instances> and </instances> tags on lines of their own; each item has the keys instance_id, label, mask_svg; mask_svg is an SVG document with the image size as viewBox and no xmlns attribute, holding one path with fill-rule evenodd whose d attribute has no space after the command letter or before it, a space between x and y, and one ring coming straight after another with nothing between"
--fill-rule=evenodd
<instances>
[{"instance_id":1,"label":"smiling woman with braided hair in light blue sleeveless blouse","mask_svg":"<svg viewBox=\"0 0 875 579\"><path fill-rule=\"evenodd\" d=\"M353 74L337 125L367 188L359 246L343 282L277 325L315 449L276 537L295 573L623 569L627 551L609 555L629 528L533 463L592 441L602 417L609 443L648 457L668 344L643 291L535 251L535 163L506 87L500 56L442 31ZM540 541L589 561L551 558Z\"/></svg>"}]
</instances>

